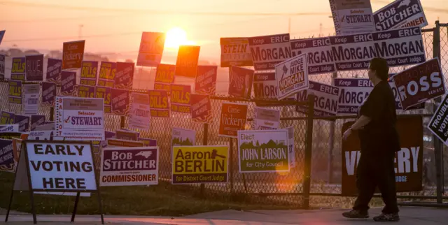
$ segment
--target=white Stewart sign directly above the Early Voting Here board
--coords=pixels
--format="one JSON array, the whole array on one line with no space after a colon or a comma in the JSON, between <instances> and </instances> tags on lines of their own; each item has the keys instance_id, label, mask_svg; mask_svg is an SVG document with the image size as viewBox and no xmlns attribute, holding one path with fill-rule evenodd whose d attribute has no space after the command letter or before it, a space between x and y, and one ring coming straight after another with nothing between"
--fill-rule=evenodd
<instances>
[{"instance_id":1,"label":"white Stewart sign directly above the Early Voting Here board","mask_svg":"<svg viewBox=\"0 0 448 225\"><path fill-rule=\"evenodd\" d=\"M104 99L57 96L56 136L104 140Z\"/></svg>"}]
</instances>

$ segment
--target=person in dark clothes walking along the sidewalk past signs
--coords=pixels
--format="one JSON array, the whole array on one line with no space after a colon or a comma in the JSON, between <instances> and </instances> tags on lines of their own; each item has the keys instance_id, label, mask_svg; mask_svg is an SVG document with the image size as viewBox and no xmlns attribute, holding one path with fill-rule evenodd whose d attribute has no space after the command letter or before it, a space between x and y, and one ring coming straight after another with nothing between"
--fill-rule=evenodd
<instances>
[{"instance_id":1,"label":"person in dark clothes walking along the sidewalk past signs","mask_svg":"<svg viewBox=\"0 0 448 225\"><path fill-rule=\"evenodd\" d=\"M368 204L378 187L386 206L381 215L373 218L374 221L400 220L393 162L395 152L400 150L400 143L395 129L395 97L388 85L388 70L386 59L374 58L370 61L368 75L374 88L358 109L358 119L343 136L345 140L352 130L357 130L361 145L361 157L356 168L358 198L353 210L342 214L347 218L368 218Z\"/></svg>"}]
</instances>

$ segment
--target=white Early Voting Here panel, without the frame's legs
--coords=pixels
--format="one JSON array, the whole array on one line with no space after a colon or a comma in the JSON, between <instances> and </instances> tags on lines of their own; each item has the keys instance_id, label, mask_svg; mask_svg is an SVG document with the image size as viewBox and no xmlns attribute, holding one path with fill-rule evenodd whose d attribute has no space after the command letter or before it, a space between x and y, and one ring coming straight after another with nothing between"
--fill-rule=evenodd
<instances>
[{"instance_id":1,"label":"white Early Voting Here panel, without the frame's legs","mask_svg":"<svg viewBox=\"0 0 448 225\"><path fill-rule=\"evenodd\" d=\"M92 148L89 143L26 142L31 189L94 191ZM22 158L22 157L20 157ZM25 169L25 165L18 167Z\"/></svg>"}]
</instances>

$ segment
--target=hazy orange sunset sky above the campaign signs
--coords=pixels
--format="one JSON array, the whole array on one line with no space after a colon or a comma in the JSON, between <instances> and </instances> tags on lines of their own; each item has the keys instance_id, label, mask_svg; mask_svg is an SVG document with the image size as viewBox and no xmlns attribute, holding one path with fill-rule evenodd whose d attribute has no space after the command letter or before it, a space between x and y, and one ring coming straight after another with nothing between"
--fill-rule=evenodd
<instances>
[{"instance_id":1,"label":"hazy orange sunset sky above the campaign signs","mask_svg":"<svg viewBox=\"0 0 448 225\"><path fill-rule=\"evenodd\" d=\"M372 8L375 11L391 1L371 0ZM448 0L421 3L430 27L437 17L448 22ZM221 15L195 14L199 12ZM333 34L329 15L328 0L0 0L0 30L6 29L0 48L15 44L61 50L62 42L78 40L80 34L86 52L137 56L142 31L181 27L189 40L201 45L201 59L219 59L220 37L287 33L289 17L291 38L318 36L319 31Z\"/></svg>"}]
</instances>

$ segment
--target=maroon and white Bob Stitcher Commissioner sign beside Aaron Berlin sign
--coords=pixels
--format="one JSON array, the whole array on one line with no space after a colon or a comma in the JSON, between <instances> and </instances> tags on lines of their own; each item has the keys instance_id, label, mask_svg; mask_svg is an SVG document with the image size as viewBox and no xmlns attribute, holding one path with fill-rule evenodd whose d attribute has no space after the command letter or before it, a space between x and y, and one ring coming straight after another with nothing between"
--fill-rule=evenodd
<instances>
[{"instance_id":1,"label":"maroon and white Bob Stitcher Commissioner sign beside Aaron Berlin sign","mask_svg":"<svg viewBox=\"0 0 448 225\"><path fill-rule=\"evenodd\" d=\"M106 147L101 159L99 186L159 183L159 147Z\"/></svg>"}]
</instances>

